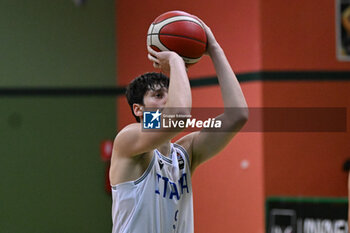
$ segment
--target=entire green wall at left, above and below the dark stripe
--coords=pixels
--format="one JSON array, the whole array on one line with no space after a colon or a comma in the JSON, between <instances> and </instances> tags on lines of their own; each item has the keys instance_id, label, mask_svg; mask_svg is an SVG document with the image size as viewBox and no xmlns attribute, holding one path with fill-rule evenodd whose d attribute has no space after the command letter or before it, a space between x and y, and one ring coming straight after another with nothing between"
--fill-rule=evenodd
<instances>
[{"instance_id":1,"label":"entire green wall at left, above and below the dark stripe","mask_svg":"<svg viewBox=\"0 0 350 233\"><path fill-rule=\"evenodd\" d=\"M0 92L115 86L114 14L114 1L0 1ZM99 144L115 122L114 96L0 95L0 233L110 232Z\"/></svg>"}]
</instances>

